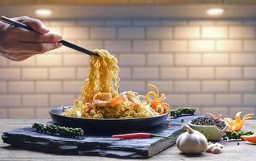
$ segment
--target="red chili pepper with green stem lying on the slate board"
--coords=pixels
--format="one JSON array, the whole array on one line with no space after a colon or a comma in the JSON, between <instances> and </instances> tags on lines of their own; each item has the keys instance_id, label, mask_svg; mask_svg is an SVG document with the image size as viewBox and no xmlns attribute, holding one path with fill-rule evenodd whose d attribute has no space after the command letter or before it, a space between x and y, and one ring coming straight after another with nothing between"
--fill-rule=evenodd
<instances>
[{"instance_id":1,"label":"red chili pepper with green stem lying on the slate board","mask_svg":"<svg viewBox=\"0 0 256 161\"><path fill-rule=\"evenodd\" d=\"M171 137L162 136L162 135L158 135L158 134L151 134L151 133L131 133L131 134L114 134L114 135L112 135L112 138L124 138L124 139L152 138L152 137L172 139Z\"/></svg>"}]
</instances>

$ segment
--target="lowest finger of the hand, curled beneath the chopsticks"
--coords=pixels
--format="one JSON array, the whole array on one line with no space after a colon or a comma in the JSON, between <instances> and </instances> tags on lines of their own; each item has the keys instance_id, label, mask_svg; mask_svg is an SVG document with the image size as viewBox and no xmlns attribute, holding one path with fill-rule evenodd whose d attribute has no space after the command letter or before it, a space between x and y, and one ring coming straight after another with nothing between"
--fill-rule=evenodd
<instances>
[{"instance_id":1,"label":"lowest finger of the hand, curled beneath the chopsticks","mask_svg":"<svg viewBox=\"0 0 256 161\"><path fill-rule=\"evenodd\" d=\"M40 54L61 46L61 43L19 43L19 45L17 45L16 51Z\"/></svg>"}]
</instances>

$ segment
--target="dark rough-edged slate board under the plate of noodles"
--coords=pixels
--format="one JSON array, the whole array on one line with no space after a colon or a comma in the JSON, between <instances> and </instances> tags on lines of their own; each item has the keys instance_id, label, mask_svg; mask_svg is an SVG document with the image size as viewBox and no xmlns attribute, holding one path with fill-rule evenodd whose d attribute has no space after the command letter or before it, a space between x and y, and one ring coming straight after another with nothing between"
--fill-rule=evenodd
<instances>
[{"instance_id":1,"label":"dark rough-edged slate board under the plate of noodles","mask_svg":"<svg viewBox=\"0 0 256 161\"><path fill-rule=\"evenodd\" d=\"M88 135L82 138L62 138L36 133L31 126L10 130L2 134L3 142L31 151L43 151L61 155L94 155L120 159L147 159L174 145L182 133L181 119L185 123L198 116L169 118L166 123L153 130L141 131L165 136L166 138L119 139L110 136Z\"/></svg>"}]
</instances>

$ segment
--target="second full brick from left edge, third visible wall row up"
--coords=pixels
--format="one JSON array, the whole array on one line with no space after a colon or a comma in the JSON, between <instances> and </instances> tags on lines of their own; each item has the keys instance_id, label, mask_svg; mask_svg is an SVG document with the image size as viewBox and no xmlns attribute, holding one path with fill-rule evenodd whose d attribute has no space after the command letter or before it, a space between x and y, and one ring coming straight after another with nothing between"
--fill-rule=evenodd
<instances>
[{"instance_id":1,"label":"second full brick from left edge, third visible wall row up","mask_svg":"<svg viewBox=\"0 0 256 161\"><path fill-rule=\"evenodd\" d=\"M36 93L61 93L61 81L36 81Z\"/></svg>"}]
</instances>

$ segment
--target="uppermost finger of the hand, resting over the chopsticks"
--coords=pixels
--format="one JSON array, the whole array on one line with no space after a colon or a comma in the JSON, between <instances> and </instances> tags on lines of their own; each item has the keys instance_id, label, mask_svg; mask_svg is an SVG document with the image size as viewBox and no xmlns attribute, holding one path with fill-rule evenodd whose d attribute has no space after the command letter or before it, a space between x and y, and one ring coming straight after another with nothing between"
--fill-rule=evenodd
<instances>
[{"instance_id":1,"label":"uppermost finger of the hand, resting over the chopsticks","mask_svg":"<svg viewBox=\"0 0 256 161\"><path fill-rule=\"evenodd\" d=\"M30 26L34 31L45 34L50 31L47 27L44 26L44 23L42 23L39 19L31 19L27 16L16 18L20 23L25 23L28 26Z\"/></svg>"}]
</instances>

